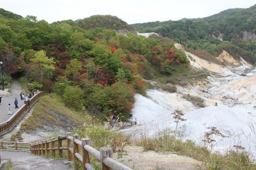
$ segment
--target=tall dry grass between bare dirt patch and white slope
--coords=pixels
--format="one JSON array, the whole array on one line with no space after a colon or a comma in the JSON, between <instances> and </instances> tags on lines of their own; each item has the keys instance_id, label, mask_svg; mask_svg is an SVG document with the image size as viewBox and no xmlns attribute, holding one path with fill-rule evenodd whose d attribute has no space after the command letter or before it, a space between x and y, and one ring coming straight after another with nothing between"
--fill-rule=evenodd
<instances>
[{"instance_id":1,"label":"tall dry grass between bare dirt patch and white slope","mask_svg":"<svg viewBox=\"0 0 256 170\"><path fill-rule=\"evenodd\" d=\"M249 153L235 149L226 154L211 153L205 147L197 146L193 141L182 142L166 129L159 132L157 137L143 136L136 141L137 145L145 150L156 152L171 152L178 155L189 156L201 161L197 166L207 170L255 170L255 160L250 159Z\"/></svg>"}]
</instances>

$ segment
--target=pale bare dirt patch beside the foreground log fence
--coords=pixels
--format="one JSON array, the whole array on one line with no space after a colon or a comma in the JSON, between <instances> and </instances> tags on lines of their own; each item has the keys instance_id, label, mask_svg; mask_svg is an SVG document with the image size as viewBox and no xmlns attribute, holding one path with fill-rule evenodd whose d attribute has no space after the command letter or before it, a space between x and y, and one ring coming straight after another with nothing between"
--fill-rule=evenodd
<instances>
[{"instance_id":1,"label":"pale bare dirt patch beside the foreground log fence","mask_svg":"<svg viewBox=\"0 0 256 170\"><path fill-rule=\"evenodd\" d=\"M114 153L113 159L134 170L199 170L200 162L186 156L167 152L143 152L140 146L125 146L122 154Z\"/></svg>"}]
</instances>

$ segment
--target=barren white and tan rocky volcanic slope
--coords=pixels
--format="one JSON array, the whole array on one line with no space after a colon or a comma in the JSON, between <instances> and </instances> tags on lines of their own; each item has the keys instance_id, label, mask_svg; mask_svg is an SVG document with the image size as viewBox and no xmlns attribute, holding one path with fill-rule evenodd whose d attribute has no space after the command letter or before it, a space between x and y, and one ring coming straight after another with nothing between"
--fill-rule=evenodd
<instances>
[{"instance_id":1,"label":"barren white and tan rocky volcanic slope","mask_svg":"<svg viewBox=\"0 0 256 170\"><path fill-rule=\"evenodd\" d=\"M175 44L181 48L179 44ZM181 48L182 49L182 48ZM179 124L178 137L205 145L202 140L207 127L217 127L228 136L218 142L214 150L227 152L233 145L241 145L256 156L256 69L244 60L237 61L226 51L218 57L226 65L218 65L186 52L191 65L197 69L207 69L211 76L203 82L195 82L187 87L177 86L177 93L148 90L147 98L137 94L133 109L133 119L137 127L122 130L134 137L153 136L160 130L176 126L171 113L175 109L185 113L186 121ZM183 98L190 94L203 98L205 108L200 109ZM217 103L218 106L215 106Z\"/></svg>"}]
</instances>

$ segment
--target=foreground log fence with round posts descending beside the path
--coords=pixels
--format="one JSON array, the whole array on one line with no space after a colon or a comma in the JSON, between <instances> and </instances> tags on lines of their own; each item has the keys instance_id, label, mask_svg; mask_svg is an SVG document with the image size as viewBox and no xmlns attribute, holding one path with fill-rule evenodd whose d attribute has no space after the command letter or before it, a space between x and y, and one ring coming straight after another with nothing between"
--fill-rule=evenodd
<instances>
[{"instance_id":1,"label":"foreground log fence with round posts descending beside the path","mask_svg":"<svg viewBox=\"0 0 256 170\"><path fill-rule=\"evenodd\" d=\"M66 147L62 146L63 140L67 140ZM74 134L72 136L71 133L67 133L67 136L58 136L58 139L52 138L50 141L43 140L41 142L35 142L33 144L31 143L30 150L32 154L40 156L45 154L49 155L50 152L52 156L56 156L55 152L58 151L59 157L63 156L63 150L67 150L68 160L74 161L75 170L79 169L78 161L83 164L83 170L95 170L90 164L90 155L100 160L101 170L132 170L128 166L125 166L111 158L111 147L102 147L100 148L100 151L98 151L90 146L89 138L82 138L82 140L79 141L78 134Z\"/></svg>"}]
</instances>

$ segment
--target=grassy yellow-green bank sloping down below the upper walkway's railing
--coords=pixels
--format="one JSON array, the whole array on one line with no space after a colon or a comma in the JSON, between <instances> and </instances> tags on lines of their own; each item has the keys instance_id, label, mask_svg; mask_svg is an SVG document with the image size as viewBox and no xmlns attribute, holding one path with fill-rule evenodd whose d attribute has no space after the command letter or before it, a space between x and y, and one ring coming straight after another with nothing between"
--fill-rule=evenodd
<instances>
[{"instance_id":1,"label":"grassy yellow-green bank sloping down below the upper walkway's railing","mask_svg":"<svg viewBox=\"0 0 256 170\"><path fill-rule=\"evenodd\" d=\"M82 121L81 121L82 120ZM75 112L67 107L55 94L42 97L34 106L32 116L22 123L21 131L33 131L45 125L80 127L84 118L82 112Z\"/></svg>"}]
</instances>

